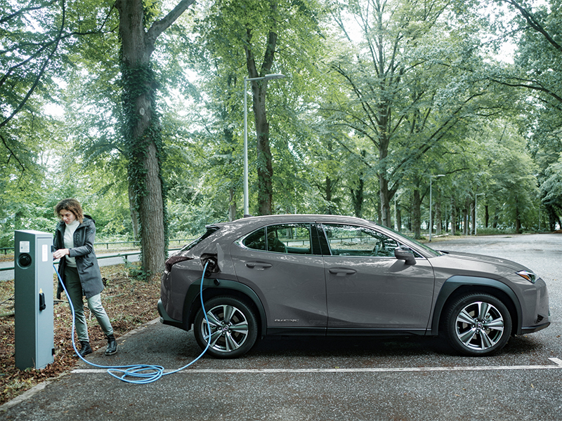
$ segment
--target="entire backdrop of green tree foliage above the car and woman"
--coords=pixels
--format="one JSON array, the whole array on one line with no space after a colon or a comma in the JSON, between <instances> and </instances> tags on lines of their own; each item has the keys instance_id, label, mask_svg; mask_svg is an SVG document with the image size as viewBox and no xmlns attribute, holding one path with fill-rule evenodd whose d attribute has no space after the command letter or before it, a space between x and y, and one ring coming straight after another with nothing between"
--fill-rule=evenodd
<instances>
[{"instance_id":1,"label":"entire backdrop of green tree foliage above the car and woman","mask_svg":"<svg viewBox=\"0 0 562 421\"><path fill-rule=\"evenodd\" d=\"M141 198L148 142L162 161L171 236L240 218L247 53L265 57L272 28L270 70L287 75L267 85L273 212L386 215L388 224L396 194L404 224L417 218L426 226L429 175L445 173L433 180L442 218L454 207L461 220L485 193L479 234L485 206L490 229L537 229L545 210L554 229L562 215L562 62L551 41L560 42L562 5L510 0L515 14L504 17L515 18L492 20L481 9L490 1L432 0L422 8L389 0L383 13L375 0L203 2L159 37L152 66L134 68L116 60L114 1L66 1L65 15L58 1L4 2L0 245L11 246L14 229L52 231L53 206L69 196L96 220L98 238L131 238L129 181ZM143 2L145 29L164 6ZM494 60L504 39L518 46L513 63ZM139 94L157 109L137 139L130 100ZM255 214L258 156L248 111Z\"/></svg>"}]
</instances>

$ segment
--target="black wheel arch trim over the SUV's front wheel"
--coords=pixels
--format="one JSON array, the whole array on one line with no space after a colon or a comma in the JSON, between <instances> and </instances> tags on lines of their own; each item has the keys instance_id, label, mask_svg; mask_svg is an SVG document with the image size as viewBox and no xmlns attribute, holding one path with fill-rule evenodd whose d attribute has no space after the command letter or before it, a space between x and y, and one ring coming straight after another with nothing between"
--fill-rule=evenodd
<instances>
[{"instance_id":1,"label":"black wheel arch trim over the SUV's front wheel","mask_svg":"<svg viewBox=\"0 0 562 421\"><path fill-rule=\"evenodd\" d=\"M497 279L455 275L447 279L439 291L435 309L433 309L431 335L439 334L443 309L446 309L449 303L460 295L469 293L487 293L501 300L511 314L511 334L521 334L521 303L514 290Z\"/></svg>"}]
</instances>

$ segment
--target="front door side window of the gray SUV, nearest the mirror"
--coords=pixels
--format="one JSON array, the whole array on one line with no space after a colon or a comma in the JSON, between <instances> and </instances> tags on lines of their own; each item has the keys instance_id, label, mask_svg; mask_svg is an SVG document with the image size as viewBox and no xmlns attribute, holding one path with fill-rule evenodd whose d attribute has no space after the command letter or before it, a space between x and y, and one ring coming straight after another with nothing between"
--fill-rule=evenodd
<instances>
[{"instance_id":1,"label":"front door side window of the gray SUV, nearest the mirror","mask_svg":"<svg viewBox=\"0 0 562 421\"><path fill-rule=\"evenodd\" d=\"M393 258L398 242L372 229L353 225L324 225L332 255Z\"/></svg>"}]
</instances>

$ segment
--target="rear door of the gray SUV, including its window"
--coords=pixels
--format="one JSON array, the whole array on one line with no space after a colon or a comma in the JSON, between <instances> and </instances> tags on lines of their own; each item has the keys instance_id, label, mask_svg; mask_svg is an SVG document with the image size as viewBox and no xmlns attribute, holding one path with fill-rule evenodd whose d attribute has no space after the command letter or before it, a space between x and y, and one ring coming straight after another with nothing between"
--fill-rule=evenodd
<instances>
[{"instance_id":1,"label":"rear door of the gray SUV, including its window","mask_svg":"<svg viewBox=\"0 0 562 421\"><path fill-rule=\"evenodd\" d=\"M326 328L326 283L311 224L270 225L230 246L238 280L266 310L268 328Z\"/></svg>"}]
</instances>

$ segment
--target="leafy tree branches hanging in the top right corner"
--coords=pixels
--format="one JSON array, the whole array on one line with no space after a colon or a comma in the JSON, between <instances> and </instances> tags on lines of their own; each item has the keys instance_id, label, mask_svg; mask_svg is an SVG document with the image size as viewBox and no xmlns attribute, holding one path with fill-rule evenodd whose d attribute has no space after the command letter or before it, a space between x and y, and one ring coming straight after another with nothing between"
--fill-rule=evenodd
<instances>
[{"instance_id":1,"label":"leafy tree branches hanging in the top right corner","mask_svg":"<svg viewBox=\"0 0 562 421\"><path fill-rule=\"evenodd\" d=\"M527 98L522 130L533 146L562 151L562 3L560 0L494 0L507 5L514 18L496 20L500 40L516 45L513 64L497 65L490 80Z\"/></svg>"}]
</instances>

